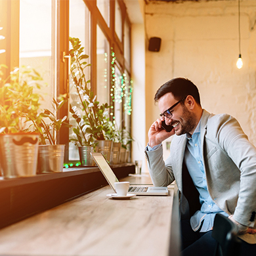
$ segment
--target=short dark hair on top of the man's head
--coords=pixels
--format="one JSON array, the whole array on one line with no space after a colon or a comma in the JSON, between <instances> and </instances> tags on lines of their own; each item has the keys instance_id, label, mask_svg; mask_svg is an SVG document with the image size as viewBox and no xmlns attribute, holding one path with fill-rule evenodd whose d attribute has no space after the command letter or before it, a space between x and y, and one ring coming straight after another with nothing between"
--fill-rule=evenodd
<instances>
[{"instance_id":1,"label":"short dark hair on top of the man's head","mask_svg":"<svg viewBox=\"0 0 256 256\"><path fill-rule=\"evenodd\" d=\"M201 106L198 87L186 78L177 77L161 85L154 97L155 102L158 102L161 96L166 93L172 93L176 100L182 100L182 98L191 95Z\"/></svg>"}]
</instances>

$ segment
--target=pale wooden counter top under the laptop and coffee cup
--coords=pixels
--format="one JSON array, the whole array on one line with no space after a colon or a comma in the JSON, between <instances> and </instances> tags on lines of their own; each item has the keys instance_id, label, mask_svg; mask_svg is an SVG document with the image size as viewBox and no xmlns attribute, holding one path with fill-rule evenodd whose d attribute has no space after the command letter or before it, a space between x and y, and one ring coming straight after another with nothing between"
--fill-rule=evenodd
<instances>
[{"instance_id":1,"label":"pale wooden counter top under the laptop and coffee cup","mask_svg":"<svg viewBox=\"0 0 256 256\"><path fill-rule=\"evenodd\" d=\"M150 177L123 181L148 183ZM0 255L169 255L173 186L169 196L113 200L105 186L0 230Z\"/></svg>"}]
</instances>

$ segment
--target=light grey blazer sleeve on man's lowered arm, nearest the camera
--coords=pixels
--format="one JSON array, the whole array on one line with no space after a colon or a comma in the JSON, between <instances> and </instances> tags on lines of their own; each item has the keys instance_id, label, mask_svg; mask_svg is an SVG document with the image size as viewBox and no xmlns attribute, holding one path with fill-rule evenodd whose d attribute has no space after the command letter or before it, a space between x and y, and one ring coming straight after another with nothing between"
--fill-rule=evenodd
<instances>
[{"instance_id":1,"label":"light grey blazer sleeve on man's lowered arm, nearest the camera","mask_svg":"<svg viewBox=\"0 0 256 256\"><path fill-rule=\"evenodd\" d=\"M217 115L211 118L208 124L209 127L215 127L215 131L211 129L211 132L215 135L219 146L240 171L240 190L234 219L245 226L255 226L256 148L249 142L234 117L226 114ZM232 183L229 186L232 186Z\"/></svg>"}]
</instances>

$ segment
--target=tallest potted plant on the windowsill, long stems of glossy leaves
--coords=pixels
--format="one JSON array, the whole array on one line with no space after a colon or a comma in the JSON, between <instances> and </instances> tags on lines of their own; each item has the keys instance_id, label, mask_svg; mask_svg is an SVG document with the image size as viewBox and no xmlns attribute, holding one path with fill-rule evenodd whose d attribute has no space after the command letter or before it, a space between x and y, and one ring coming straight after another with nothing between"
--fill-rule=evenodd
<instances>
[{"instance_id":1,"label":"tallest potted plant on the windowsill, long stems of glossy leaves","mask_svg":"<svg viewBox=\"0 0 256 256\"><path fill-rule=\"evenodd\" d=\"M96 96L89 86L90 80L85 77L85 69L91 64L87 63L88 55L83 54L83 47L78 38L70 37L72 49L71 75L74 91L71 93L70 112L74 117L77 127L73 131L76 135L79 146L95 146L97 152L102 152L106 159L110 161L112 150L112 140L106 140L106 133L110 127L108 125L108 104L101 104L96 100ZM74 139L73 139L74 140Z\"/></svg>"}]
</instances>

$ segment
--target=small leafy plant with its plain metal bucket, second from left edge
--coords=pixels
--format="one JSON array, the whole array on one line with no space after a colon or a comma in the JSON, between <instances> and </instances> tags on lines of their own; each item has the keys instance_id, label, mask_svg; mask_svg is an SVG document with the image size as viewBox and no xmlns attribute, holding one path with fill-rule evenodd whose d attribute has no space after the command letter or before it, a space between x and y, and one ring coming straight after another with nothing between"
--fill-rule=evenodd
<instances>
[{"instance_id":1,"label":"small leafy plant with its plain metal bucket, second from left edge","mask_svg":"<svg viewBox=\"0 0 256 256\"><path fill-rule=\"evenodd\" d=\"M37 173L63 171L65 145L58 144L57 137L61 127L71 127L71 125L66 122L67 116L58 119L58 112L66 102L66 95L60 95L58 101L53 98L54 111L45 109L37 119L33 120L35 131L39 132L41 140Z\"/></svg>"}]
</instances>

